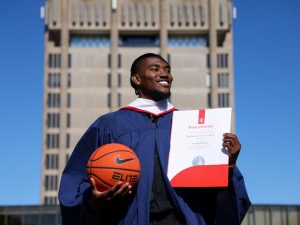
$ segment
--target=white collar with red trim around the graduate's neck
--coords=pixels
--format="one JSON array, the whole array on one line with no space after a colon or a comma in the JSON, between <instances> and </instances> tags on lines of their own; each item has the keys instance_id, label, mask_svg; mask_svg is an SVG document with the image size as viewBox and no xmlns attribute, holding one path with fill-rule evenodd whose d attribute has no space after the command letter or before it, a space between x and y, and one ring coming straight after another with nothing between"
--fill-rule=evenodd
<instances>
[{"instance_id":1,"label":"white collar with red trim around the graduate's neck","mask_svg":"<svg viewBox=\"0 0 300 225\"><path fill-rule=\"evenodd\" d=\"M161 116L176 110L176 108L168 101L168 99L163 99L156 102L145 98L137 98L129 105L121 109L145 112L154 116Z\"/></svg>"}]
</instances>

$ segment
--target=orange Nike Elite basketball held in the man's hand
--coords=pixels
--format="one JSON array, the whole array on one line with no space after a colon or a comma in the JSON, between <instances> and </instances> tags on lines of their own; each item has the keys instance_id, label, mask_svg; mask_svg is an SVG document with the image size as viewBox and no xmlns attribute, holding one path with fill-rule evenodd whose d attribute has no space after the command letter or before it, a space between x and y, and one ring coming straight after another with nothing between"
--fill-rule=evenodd
<instances>
[{"instance_id":1,"label":"orange Nike Elite basketball held in the man's hand","mask_svg":"<svg viewBox=\"0 0 300 225\"><path fill-rule=\"evenodd\" d=\"M140 161L125 145L110 143L97 148L87 163L87 175L93 177L98 191L105 191L119 181L137 185Z\"/></svg>"}]
</instances>

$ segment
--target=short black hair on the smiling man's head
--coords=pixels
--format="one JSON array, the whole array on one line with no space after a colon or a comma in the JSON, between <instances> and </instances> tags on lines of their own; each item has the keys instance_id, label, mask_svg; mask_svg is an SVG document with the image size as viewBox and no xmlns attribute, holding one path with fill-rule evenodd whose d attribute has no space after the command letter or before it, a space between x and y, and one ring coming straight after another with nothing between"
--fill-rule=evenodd
<instances>
[{"instance_id":1,"label":"short black hair on the smiling man's head","mask_svg":"<svg viewBox=\"0 0 300 225\"><path fill-rule=\"evenodd\" d=\"M135 94L136 95L139 95L139 89L138 87L136 86L136 84L132 81L131 77L134 75L134 74L137 74L140 70L140 65L144 62L144 60L148 59L148 58L159 58L161 59L162 61L168 63L163 57L161 57L160 55L157 55L157 54L154 54L154 53L145 53L139 57L137 57L132 65L131 65L131 68L130 68L130 85L131 87L134 88L134 91L135 91ZM169 64L169 63L168 63Z\"/></svg>"}]
</instances>

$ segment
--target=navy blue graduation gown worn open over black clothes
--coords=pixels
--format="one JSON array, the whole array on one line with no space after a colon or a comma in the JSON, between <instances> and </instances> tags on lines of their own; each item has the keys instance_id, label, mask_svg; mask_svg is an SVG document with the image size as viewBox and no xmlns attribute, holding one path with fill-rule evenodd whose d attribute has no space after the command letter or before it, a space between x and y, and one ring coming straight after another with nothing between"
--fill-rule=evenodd
<instances>
[{"instance_id":1,"label":"navy blue graduation gown worn open over black clothes","mask_svg":"<svg viewBox=\"0 0 300 225\"><path fill-rule=\"evenodd\" d=\"M62 174L59 201L63 225L148 224L155 145L167 189L186 224L241 223L250 201L243 176L237 167L231 171L226 188L173 189L170 186L166 170L172 114L169 112L160 116L155 127L146 113L122 109L98 118L89 127ZM104 211L94 212L86 204L86 199L91 196L86 164L92 152L107 143L121 143L133 149L140 159L141 174L131 199Z\"/></svg>"}]
</instances>

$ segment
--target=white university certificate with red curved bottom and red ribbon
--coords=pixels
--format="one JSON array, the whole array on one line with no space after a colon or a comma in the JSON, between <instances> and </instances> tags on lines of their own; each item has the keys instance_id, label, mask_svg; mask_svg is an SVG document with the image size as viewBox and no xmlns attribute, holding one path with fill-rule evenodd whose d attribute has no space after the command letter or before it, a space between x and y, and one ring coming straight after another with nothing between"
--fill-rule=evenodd
<instances>
[{"instance_id":1,"label":"white university certificate with red curved bottom and red ribbon","mask_svg":"<svg viewBox=\"0 0 300 225\"><path fill-rule=\"evenodd\" d=\"M173 187L228 186L231 108L173 112L168 178Z\"/></svg>"}]
</instances>

